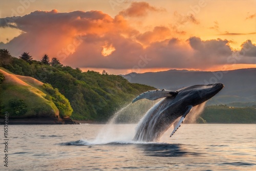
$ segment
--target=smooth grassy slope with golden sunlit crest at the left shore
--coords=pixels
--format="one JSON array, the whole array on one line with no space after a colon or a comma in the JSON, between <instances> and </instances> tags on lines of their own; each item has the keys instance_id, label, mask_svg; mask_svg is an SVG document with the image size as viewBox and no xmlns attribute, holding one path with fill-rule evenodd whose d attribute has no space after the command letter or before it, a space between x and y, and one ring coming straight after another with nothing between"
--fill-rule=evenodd
<instances>
[{"instance_id":1,"label":"smooth grassy slope with golden sunlit crest at the left shore","mask_svg":"<svg viewBox=\"0 0 256 171\"><path fill-rule=\"evenodd\" d=\"M10 100L23 99L27 104L28 111L22 117L36 116L34 111L37 108L44 109L41 116L55 116L55 114L59 113L56 105L45 99L47 94L42 91L42 82L32 77L10 74L10 72L8 73L2 68L0 72L5 76L5 80L0 84L0 101L4 105L4 111L11 110L9 106ZM10 114L10 117L12 115Z\"/></svg>"}]
</instances>

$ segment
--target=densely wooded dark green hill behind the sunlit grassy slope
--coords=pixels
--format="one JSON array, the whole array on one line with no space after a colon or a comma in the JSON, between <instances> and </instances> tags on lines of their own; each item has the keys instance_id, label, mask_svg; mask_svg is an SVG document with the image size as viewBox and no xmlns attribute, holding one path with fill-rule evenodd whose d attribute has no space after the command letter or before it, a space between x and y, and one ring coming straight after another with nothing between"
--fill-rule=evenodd
<instances>
[{"instance_id":1,"label":"densely wooded dark green hill behind the sunlit grassy slope","mask_svg":"<svg viewBox=\"0 0 256 171\"><path fill-rule=\"evenodd\" d=\"M56 58L50 62L44 57L36 61L27 53L27 58L26 54L16 58L7 50L0 50L0 67L57 88L72 106L72 119L106 121L141 92L155 89L106 72L82 72L79 68L63 67Z\"/></svg>"}]
</instances>

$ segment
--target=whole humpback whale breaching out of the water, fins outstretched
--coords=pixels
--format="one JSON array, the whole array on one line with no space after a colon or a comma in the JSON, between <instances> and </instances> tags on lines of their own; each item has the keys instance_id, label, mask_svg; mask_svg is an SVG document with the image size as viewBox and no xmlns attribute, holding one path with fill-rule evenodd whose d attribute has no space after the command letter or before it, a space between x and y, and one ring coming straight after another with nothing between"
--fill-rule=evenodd
<instances>
[{"instance_id":1,"label":"whole humpback whale breaching out of the water, fins outstretched","mask_svg":"<svg viewBox=\"0 0 256 171\"><path fill-rule=\"evenodd\" d=\"M174 131L170 134L172 137L194 106L207 101L223 88L223 83L214 83L190 86L177 91L163 89L140 94L133 100L133 103L140 99L163 99L148 110L140 120L133 140L158 141L162 134L181 117L174 127Z\"/></svg>"}]
</instances>

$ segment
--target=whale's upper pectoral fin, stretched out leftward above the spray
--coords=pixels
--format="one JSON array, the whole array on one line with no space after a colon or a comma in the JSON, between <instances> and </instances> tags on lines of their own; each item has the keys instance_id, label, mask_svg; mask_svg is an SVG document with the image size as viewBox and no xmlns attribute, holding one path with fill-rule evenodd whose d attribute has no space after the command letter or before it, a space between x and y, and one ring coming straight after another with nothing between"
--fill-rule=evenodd
<instances>
[{"instance_id":1,"label":"whale's upper pectoral fin, stretched out leftward above the spray","mask_svg":"<svg viewBox=\"0 0 256 171\"><path fill-rule=\"evenodd\" d=\"M133 99L133 103L137 100L140 99L148 99L148 100L156 100L159 98L164 98L164 97L175 97L177 96L178 92L176 91L169 91L169 90L153 90L153 91L147 91L139 96L137 96L135 99Z\"/></svg>"}]
</instances>

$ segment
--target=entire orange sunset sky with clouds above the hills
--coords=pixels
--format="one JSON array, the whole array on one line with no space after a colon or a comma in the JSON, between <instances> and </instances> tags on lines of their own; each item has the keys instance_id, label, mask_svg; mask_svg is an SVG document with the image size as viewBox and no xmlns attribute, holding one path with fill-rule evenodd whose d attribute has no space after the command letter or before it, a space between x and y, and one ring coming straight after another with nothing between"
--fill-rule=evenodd
<instances>
[{"instance_id":1,"label":"entire orange sunset sky with clouds above the hills","mask_svg":"<svg viewBox=\"0 0 256 171\"><path fill-rule=\"evenodd\" d=\"M0 49L110 74L256 68L256 0L1 1Z\"/></svg>"}]
</instances>

